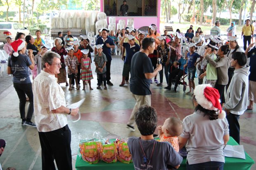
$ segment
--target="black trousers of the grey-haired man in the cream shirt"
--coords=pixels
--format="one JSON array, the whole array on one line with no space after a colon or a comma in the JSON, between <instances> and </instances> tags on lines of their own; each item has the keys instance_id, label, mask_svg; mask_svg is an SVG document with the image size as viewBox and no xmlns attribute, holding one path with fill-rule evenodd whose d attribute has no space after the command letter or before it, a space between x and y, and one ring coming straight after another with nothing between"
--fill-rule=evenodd
<instances>
[{"instance_id":1,"label":"black trousers of the grey-haired man in the cream shirt","mask_svg":"<svg viewBox=\"0 0 256 170\"><path fill-rule=\"evenodd\" d=\"M38 132L42 148L42 170L72 170L69 126L51 132Z\"/></svg>"}]
</instances>

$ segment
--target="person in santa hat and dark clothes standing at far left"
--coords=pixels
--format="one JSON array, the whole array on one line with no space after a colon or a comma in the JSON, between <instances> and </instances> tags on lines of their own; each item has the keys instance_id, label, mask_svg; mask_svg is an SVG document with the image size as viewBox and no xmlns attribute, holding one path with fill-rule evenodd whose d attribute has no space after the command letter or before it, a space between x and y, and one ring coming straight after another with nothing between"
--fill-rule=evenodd
<instances>
[{"instance_id":1,"label":"person in santa hat and dark clothes standing at far left","mask_svg":"<svg viewBox=\"0 0 256 170\"><path fill-rule=\"evenodd\" d=\"M8 59L7 73L13 75L13 86L19 97L19 112L22 119L21 125L36 127L36 125L31 122L34 106L32 83L28 72L28 68L33 70L35 65L33 50L28 50L28 57L25 54L26 42L21 39L12 42L11 46L14 52ZM29 98L27 116L25 115L26 95Z\"/></svg>"}]
</instances>

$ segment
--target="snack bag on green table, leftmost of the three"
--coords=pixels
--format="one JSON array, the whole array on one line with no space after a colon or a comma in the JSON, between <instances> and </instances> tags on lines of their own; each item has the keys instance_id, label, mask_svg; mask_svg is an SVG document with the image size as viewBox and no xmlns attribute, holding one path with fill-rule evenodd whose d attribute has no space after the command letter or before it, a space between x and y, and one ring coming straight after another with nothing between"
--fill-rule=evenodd
<instances>
[{"instance_id":1,"label":"snack bag on green table, leftmost of the three","mask_svg":"<svg viewBox=\"0 0 256 170\"><path fill-rule=\"evenodd\" d=\"M79 149L83 160L90 164L98 163L101 145L101 142L81 142Z\"/></svg>"}]
</instances>

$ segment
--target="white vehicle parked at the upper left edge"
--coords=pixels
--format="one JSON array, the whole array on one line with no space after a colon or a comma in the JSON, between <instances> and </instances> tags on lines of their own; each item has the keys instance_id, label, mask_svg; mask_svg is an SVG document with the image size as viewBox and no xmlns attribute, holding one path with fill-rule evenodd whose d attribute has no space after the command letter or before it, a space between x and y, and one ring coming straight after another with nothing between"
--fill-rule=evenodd
<instances>
[{"instance_id":1,"label":"white vehicle parked at the upper left edge","mask_svg":"<svg viewBox=\"0 0 256 170\"><path fill-rule=\"evenodd\" d=\"M15 22L0 22L0 42L6 42L6 37L11 37L14 41L17 33L31 35L27 28L24 28L20 23Z\"/></svg>"}]
</instances>

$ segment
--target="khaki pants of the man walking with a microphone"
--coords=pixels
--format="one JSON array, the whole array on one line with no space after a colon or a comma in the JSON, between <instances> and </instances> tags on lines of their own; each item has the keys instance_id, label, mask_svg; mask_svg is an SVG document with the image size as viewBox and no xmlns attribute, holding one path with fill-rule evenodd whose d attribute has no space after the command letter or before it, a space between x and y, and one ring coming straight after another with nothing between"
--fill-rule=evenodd
<instances>
[{"instance_id":1,"label":"khaki pants of the man walking with a microphone","mask_svg":"<svg viewBox=\"0 0 256 170\"><path fill-rule=\"evenodd\" d=\"M151 106L151 95L135 95L132 94L133 98L135 99L136 103L135 106L133 107L133 111L130 115L130 119L128 121L128 125L134 126L135 125L135 113L137 110L140 108L142 105L148 105Z\"/></svg>"}]
</instances>

